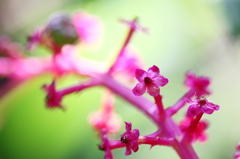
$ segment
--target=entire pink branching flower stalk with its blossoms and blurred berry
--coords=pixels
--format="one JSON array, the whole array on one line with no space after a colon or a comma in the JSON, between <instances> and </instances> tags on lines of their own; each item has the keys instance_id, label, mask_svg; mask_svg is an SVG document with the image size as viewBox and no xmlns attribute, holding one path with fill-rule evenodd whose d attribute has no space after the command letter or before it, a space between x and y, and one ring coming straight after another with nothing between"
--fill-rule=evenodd
<instances>
[{"instance_id":1,"label":"entire pink branching flower stalk with its blossoms and blurred berry","mask_svg":"<svg viewBox=\"0 0 240 159\"><path fill-rule=\"evenodd\" d=\"M209 125L207 121L202 120L202 116L212 114L220 108L206 98L210 95L210 79L197 76L191 71L187 72L184 84L189 89L175 104L165 108L160 87L166 86L169 80L160 74L156 65L147 71L143 70L140 55L129 45L137 30L146 32L147 29L139 25L138 18L121 22L127 24L128 34L117 52L116 59L109 67L79 56L78 53L84 50L83 47L93 47L102 35L99 18L81 11L74 15L57 14L29 37L27 48L32 50L37 45L42 45L50 50L49 57L25 57L17 49L17 45L0 38L0 53L4 54L4 57L0 57L0 76L26 81L33 76L51 72L54 75L53 82L43 86L46 92L46 106L64 110L65 104L63 107L61 102L66 95L102 86L102 104L99 110L88 116L88 121L101 140L99 149L105 152L104 159L113 159L112 150L118 148L126 148L125 155L131 155L132 151L139 150L141 144L150 147L168 146L182 159L198 159L193 143L196 140L203 142L208 138L206 129ZM57 90L57 80L68 74L84 77L84 81ZM128 88L124 82L129 80L122 80L126 78L132 82L136 78L138 83L135 87ZM153 97L154 102L145 98L144 93ZM132 130L131 122L125 122L125 132L116 140L112 140L114 134L120 130L122 122L121 116L117 115L114 109L115 95L146 115L156 125L156 131L140 136L140 129ZM190 105L187 116L178 124L173 120L173 116L187 104Z\"/></svg>"}]
</instances>

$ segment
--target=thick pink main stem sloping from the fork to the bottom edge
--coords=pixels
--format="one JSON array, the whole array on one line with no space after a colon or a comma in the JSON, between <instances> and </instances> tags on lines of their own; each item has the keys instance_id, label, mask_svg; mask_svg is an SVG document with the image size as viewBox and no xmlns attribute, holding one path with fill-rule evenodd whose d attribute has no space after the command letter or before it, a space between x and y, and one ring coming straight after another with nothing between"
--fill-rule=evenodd
<instances>
[{"instance_id":1,"label":"thick pink main stem sloping from the fork to the bottom edge","mask_svg":"<svg viewBox=\"0 0 240 159\"><path fill-rule=\"evenodd\" d=\"M135 106L137 109L142 111L150 119L152 119L160 129L162 128L172 137L175 138L176 135L179 134L179 132L181 132L179 127L174 123L170 116L166 117L166 121L164 124L163 123L159 124L160 118L158 115L159 114L158 109L153 103L151 103L146 98L134 96L131 90L121 85L120 83L118 83L117 81L115 81L106 74L99 75L98 79L101 80L102 85L109 88L115 94L118 94L123 99L125 99L133 106ZM182 159L198 159L196 152L194 151L192 145L190 144L182 143L177 138L175 138L173 147Z\"/></svg>"}]
</instances>

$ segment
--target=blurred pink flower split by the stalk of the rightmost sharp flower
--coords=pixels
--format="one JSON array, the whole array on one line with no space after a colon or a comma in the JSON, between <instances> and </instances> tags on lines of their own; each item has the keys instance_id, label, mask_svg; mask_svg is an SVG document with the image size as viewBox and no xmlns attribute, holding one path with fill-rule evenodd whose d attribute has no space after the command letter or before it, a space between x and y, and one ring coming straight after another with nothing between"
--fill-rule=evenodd
<instances>
[{"instance_id":1,"label":"blurred pink flower split by the stalk of the rightmost sharp flower","mask_svg":"<svg viewBox=\"0 0 240 159\"><path fill-rule=\"evenodd\" d=\"M191 117L186 117L184 120L180 122L179 127L182 130L182 132L186 132L188 130L191 120L192 120ZM208 122L204 120L200 121L193 133L193 141L196 141L196 140L199 140L200 142L207 141L208 135L205 133L207 128L208 128Z\"/></svg>"}]
</instances>

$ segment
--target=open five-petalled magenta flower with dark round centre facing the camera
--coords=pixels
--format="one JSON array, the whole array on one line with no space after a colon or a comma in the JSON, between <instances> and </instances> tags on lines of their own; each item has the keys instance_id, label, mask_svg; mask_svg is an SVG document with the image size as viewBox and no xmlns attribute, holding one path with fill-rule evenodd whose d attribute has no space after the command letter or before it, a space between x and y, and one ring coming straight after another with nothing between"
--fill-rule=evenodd
<instances>
[{"instance_id":1,"label":"open five-petalled magenta flower with dark round centre facing the camera","mask_svg":"<svg viewBox=\"0 0 240 159\"><path fill-rule=\"evenodd\" d=\"M146 90L151 96L157 96L160 93L159 87L163 87L168 83L168 79L160 75L159 68L155 65L150 67L147 72L137 69L135 76L140 82L132 90L136 96L143 95Z\"/></svg>"}]
</instances>

